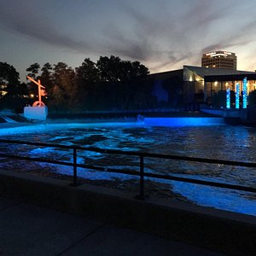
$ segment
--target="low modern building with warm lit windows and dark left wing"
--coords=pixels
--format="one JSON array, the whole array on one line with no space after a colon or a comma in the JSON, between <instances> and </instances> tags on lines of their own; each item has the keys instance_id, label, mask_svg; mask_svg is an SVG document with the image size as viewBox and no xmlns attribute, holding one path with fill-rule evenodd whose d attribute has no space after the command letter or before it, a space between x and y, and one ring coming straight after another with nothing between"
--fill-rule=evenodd
<instances>
[{"instance_id":1,"label":"low modern building with warm lit windows and dark left wing","mask_svg":"<svg viewBox=\"0 0 256 256\"><path fill-rule=\"evenodd\" d=\"M211 102L219 90L239 91L247 78L247 95L256 90L256 73L224 68L183 66L182 69L154 73L148 79L154 82L154 96L172 107Z\"/></svg>"}]
</instances>

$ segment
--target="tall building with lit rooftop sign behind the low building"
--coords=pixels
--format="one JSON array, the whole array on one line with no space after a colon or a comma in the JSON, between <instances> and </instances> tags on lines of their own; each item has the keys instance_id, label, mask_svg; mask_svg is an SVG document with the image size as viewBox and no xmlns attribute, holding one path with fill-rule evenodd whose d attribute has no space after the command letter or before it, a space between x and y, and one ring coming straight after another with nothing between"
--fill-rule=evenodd
<instances>
[{"instance_id":1,"label":"tall building with lit rooftop sign behind the low building","mask_svg":"<svg viewBox=\"0 0 256 256\"><path fill-rule=\"evenodd\" d=\"M236 54L223 50L203 54L201 57L201 67L236 70Z\"/></svg>"}]
</instances>

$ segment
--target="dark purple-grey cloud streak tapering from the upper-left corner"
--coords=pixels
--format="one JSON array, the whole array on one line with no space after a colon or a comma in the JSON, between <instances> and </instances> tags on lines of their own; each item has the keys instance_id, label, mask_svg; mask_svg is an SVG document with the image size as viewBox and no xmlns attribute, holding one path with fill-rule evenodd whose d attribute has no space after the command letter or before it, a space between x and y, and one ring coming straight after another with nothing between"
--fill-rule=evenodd
<instances>
[{"instance_id":1,"label":"dark purple-grey cloud streak tapering from the upper-left corner","mask_svg":"<svg viewBox=\"0 0 256 256\"><path fill-rule=\"evenodd\" d=\"M0 4L2 26L5 25L5 29L56 47L75 49L79 52L90 51L91 47L86 42L58 32L49 17L38 9L38 5L33 4L32 1L20 1L20 3L14 2L13 4L2 2Z\"/></svg>"}]
</instances>

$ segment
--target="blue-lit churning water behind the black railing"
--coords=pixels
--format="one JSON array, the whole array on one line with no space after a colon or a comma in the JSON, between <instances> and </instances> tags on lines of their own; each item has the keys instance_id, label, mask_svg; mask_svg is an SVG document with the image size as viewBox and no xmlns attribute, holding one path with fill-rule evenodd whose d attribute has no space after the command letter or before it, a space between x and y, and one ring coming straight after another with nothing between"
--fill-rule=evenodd
<instances>
[{"instance_id":1,"label":"blue-lit churning water behind the black railing","mask_svg":"<svg viewBox=\"0 0 256 256\"><path fill-rule=\"evenodd\" d=\"M256 162L256 129L245 126L160 127L143 123L49 124L0 129L0 136L32 142ZM6 151L4 147L2 145L2 150ZM50 156L58 160L72 159L72 152L67 153L66 150L55 148L26 149L22 146L21 149L9 147L8 150L11 152L19 150L22 154L32 156L35 154ZM79 152L79 163L127 170L138 169L136 158L109 156L90 151ZM256 170L253 168L154 159L146 159L145 167L146 172L172 173L256 187ZM65 172L63 168L58 172L61 170ZM115 174L108 178L113 177L125 178ZM89 178L107 177L104 175L97 177L93 172L90 173ZM172 182L172 189L202 205L256 215L256 198L250 193L175 182ZM217 197L219 200L216 200Z\"/></svg>"}]
</instances>

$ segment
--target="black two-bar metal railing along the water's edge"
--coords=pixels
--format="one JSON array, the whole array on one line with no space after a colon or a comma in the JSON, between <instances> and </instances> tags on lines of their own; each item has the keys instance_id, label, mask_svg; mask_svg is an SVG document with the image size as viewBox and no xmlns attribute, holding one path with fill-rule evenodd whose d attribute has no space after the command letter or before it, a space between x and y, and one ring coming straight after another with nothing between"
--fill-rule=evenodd
<instances>
[{"instance_id":1,"label":"black two-bar metal railing along the water's edge","mask_svg":"<svg viewBox=\"0 0 256 256\"><path fill-rule=\"evenodd\" d=\"M198 157L189 157L189 156L181 156L181 155L173 155L173 154L152 154L152 153L143 153L143 152L123 151L123 150L117 150L117 149L102 149L102 148L93 148L93 147L85 148L85 147L75 146L75 145L67 146L67 145L61 145L61 144L56 145L52 143L32 143L32 142L22 142L17 140L4 140L4 139L0 139L0 143L23 144L23 145L32 145L32 146L48 147L48 148L65 148L65 149L73 150L73 162L49 160L49 159L38 158L38 157L20 156L16 154L0 153L0 157L6 157L11 159L38 161L38 162L45 162L49 164L62 165L62 166L73 166L73 183L72 183L73 186L79 185L77 168L81 167L81 168L87 168L87 169L92 169L92 170L101 171L101 172L115 172L115 173L122 173L122 174L128 174L128 175L139 177L140 194L138 195L138 198L140 199L144 199L144 178L145 177L153 177L157 179L172 180L172 181L178 181L183 183L195 183L195 184L207 185L207 186L224 188L224 189L236 189L236 190L256 193L256 188L247 187L247 186L241 186L241 185L230 184L230 183L218 183L218 182L200 180L200 179L189 178L189 177L177 177L173 175L163 175L163 174L144 172L145 158L165 159L165 160L185 160L189 162L256 168L256 163L252 163L252 162L240 162L240 161L233 161L233 160L213 160L213 159L204 159L204 158L198 158ZM106 168L102 166L78 164L77 162L78 150L93 151L101 154L115 154L115 155L119 154L119 155L135 156L139 159L140 169L139 169L139 172L135 172L131 170L127 171L127 170L121 170L121 169Z\"/></svg>"}]
</instances>

